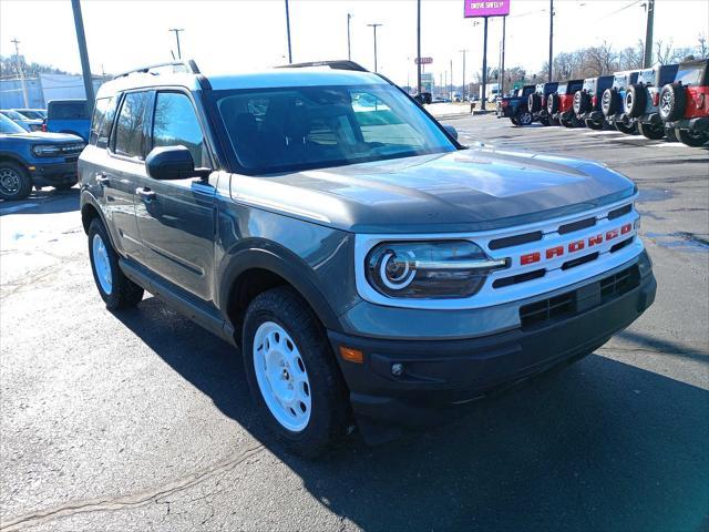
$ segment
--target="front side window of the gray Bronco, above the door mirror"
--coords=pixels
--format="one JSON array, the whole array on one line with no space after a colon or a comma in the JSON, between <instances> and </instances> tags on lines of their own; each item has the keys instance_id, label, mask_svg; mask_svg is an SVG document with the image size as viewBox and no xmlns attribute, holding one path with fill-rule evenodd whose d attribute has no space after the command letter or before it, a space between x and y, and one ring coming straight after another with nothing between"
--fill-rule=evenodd
<instances>
[{"instance_id":1,"label":"front side window of the gray Bronco, above the door mirror","mask_svg":"<svg viewBox=\"0 0 709 532\"><path fill-rule=\"evenodd\" d=\"M195 166L209 166L204 135L189 98L178 92L158 92L153 117L153 147L183 145Z\"/></svg>"}]
</instances>

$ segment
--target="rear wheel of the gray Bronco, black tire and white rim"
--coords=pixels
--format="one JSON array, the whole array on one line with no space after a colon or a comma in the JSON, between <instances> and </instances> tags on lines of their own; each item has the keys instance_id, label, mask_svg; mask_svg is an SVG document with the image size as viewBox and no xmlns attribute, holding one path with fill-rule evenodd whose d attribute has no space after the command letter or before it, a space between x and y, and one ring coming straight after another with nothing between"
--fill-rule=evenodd
<instances>
[{"instance_id":1,"label":"rear wheel of the gray Bronco, black tire and white rim","mask_svg":"<svg viewBox=\"0 0 709 532\"><path fill-rule=\"evenodd\" d=\"M106 290L99 279L99 273L96 272L96 258L94 257L93 242L95 237L100 237L105 246L105 250L109 258L109 265L111 267L111 288ZM121 268L119 267L119 254L113 249L111 238L106 232L103 222L99 218L94 218L89 226L89 258L91 259L91 272L93 274L93 280L96 284L101 298L106 304L109 310L119 310L121 308L134 307L143 299L144 290L141 286L129 279Z\"/></svg>"}]
</instances>

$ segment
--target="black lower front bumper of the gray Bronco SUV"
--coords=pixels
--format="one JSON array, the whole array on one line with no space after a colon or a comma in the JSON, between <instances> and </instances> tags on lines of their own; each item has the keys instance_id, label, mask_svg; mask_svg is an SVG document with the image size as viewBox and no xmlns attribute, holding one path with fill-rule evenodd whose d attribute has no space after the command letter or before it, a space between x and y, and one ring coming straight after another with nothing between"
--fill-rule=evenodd
<instances>
[{"instance_id":1,"label":"black lower front bumper of the gray Bronco SUV","mask_svg":"<svg viewBox=\"0 0 709 532\"><path fill-rule=\"evenodd\" d=\"M613 272L563 294L565 314L533 325L522 320L521 327L494 335L389 340L328 331L336 354L340 347L363 352L362 364L340 361L360 426L438 423L464 410L465 403L589 355L655 300L657 285L645 252ZM631 283L609 297L608 279L615 283L624 272L634 275ZM393 365L401 365L400 374L392 371Z\"/></svg>"}]
</instances>

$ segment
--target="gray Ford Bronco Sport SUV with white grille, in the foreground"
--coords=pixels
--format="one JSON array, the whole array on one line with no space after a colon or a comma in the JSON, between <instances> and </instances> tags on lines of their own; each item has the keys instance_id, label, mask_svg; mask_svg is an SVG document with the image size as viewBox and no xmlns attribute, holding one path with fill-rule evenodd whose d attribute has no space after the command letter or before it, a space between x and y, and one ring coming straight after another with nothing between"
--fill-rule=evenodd
<instances>
[{"instance_id":1,"label":"gray Ford Bronco Sport SUV with white grille, in the foreground","mask_svg":"<svg viewBox=\"0 0 709 532\"><path fill-rule=\"evenodd\" d=\"M352 422L376 442L455 416L655 297L628 178L463 146L351 62L122 74L79 171L107 308L147 290L240 347L263 419L305 456Z\"/></svg>"}]
</instances>

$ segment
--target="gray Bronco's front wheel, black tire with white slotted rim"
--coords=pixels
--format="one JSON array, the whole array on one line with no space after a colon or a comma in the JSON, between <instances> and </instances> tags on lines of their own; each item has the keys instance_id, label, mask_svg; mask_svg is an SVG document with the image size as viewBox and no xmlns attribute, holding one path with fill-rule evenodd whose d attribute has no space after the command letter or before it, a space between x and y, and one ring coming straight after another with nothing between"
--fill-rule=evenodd
<instances>
[{"instance_id":1,"label":"gray Bronco's front wheel, black tire with white slotted rim","mask_svg":"<svg viewBox=\"0 0 709 532\"><path fill-rule=\"evenodd\" d=\"M292 288L254 298L243 339L251 396L284 447L316 457L345 436L347 387L322 325Z\"/></svg>"}]
</instances>

